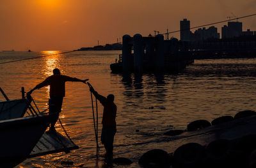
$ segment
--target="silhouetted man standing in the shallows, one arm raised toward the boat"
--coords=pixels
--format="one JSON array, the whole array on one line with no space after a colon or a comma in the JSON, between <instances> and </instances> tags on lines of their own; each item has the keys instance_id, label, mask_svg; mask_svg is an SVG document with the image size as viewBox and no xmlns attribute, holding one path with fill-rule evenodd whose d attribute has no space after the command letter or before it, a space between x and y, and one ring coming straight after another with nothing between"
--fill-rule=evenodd
<instances>
[{"instance_id":1,"label":"silhouetted man standing in the shallows, one arm raised toward the boat","mask_svg":"<svg viewBox=\"0 0 256 168\"><path fill-rule=\"evenodd\" d=\"M106 149L106 155L109 157L113 155L113 142L114 136L116 134L116 104L114 103L115 96L113 94L109 94L106 98L98 94L92 86L90 87L90 91L100 101L102 106L104 106L102 116L102 132L100 139Z\"/></svg>"}]
</instances>

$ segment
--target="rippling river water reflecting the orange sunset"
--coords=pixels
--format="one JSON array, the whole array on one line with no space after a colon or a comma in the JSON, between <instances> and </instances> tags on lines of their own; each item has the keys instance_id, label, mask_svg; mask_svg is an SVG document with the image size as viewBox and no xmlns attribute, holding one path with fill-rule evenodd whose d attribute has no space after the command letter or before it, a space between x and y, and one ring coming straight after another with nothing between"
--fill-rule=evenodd
<instances>
[{"instance_id":1,"label":"rippling river water reflecting the orange sunset","mask_svg":"<svg viewBox=\"0 0 256 168\"><path fill-rule=\"evenodd\" d=\"M52 53L60 52L0 52L0 62ZM21 87L30 90L51 75L55 67L68 76L89 78L99 94L115 95L118 111L114 157L130 158L134 163L126 167L139 167L138 159L148 150L159 148L172 152L168 142L163 140L167 130L186 129L193 120L211 122L219 116L234 116L238 111L256 109L256 59L195 60L179 74L122 76L112 74L109 69L119 53L121 51L74 52L0 64L0 87L9 99L18 99ZM32 96L40 109L47 108L49 87L35 90ZM0 100L4 101L4 97ZM101 116L99 104L100 121ZM100 157L95 157L92 105L87 85L66 83L60 118L79 149L68 154L31 158L17 167L102 167L105 151L100 144ZM62 132L59 124L56 127Z\"/></svg>"}]
</instances>

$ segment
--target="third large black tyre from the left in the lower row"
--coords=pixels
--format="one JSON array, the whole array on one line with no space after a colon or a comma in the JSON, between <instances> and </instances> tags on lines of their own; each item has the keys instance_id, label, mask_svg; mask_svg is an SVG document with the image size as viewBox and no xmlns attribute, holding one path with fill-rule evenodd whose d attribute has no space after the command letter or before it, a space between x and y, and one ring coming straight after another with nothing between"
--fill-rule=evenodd
<instances>
[{"instance_id":1,"label":"third large black tyre from the left in the lower row","mask_svg":"<svg viewBox=\"0 0 256 168\"><path fill-rule=\"evenodd\" d=\"M206 148L206 156L209 164L213 167L226 165L229 160L230 141L228 139L218 139L208 144Z\"/></svg>"}]
</instances>

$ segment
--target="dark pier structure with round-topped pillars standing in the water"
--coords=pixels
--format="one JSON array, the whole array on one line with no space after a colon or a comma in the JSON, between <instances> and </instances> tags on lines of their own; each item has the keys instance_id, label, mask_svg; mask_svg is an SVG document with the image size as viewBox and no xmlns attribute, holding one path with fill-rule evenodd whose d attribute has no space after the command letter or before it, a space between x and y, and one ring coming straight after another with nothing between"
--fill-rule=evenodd
<instances>
[{"instance_id":1,"label":"dark pier structure with round-topped pillars standing in the water","mask_svg":"<svg viewBox=\"0 0 256 168\"><path fill-rule=\"evenodd\" d=\"M110 67L114 73L173 73L191 63L191 54L179 49L178 39L164 40L162 34L155 37L135 34L133 37L123 36L122 56Z\"/></svg>"}]
</instances>

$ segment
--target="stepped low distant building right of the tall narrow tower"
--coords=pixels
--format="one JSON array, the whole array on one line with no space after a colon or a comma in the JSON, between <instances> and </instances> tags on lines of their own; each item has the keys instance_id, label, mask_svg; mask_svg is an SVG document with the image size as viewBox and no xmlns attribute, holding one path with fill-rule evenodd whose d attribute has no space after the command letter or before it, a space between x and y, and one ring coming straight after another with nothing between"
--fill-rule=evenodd
<instances>
[{"instance_id":1,"label":"stepped low distant building right of the tall narrow tower","mask_svg":"<svg viewBox=\"0 0 256 168\"><path fill-rule=\"evenodd\" d=\"M218 33L217 27L211 26L208 29L203 27L195 31L194 40L198 41L205 39L220 39L220 33Z\"/></svg>"}]
</instances>

